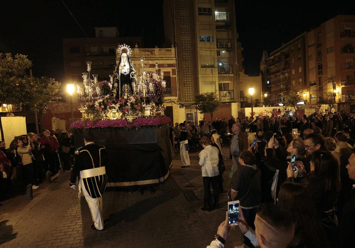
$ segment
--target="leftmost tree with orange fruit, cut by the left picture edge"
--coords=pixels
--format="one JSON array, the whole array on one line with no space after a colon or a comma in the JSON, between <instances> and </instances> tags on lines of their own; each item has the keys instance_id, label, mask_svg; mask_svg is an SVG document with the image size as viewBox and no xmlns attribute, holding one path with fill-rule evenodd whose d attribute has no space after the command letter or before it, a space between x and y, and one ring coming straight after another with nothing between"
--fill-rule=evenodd
<instances>
[{"instance_id":1,"label":"leftmost tree with orange fruit, cut by the left picture edge","mask_svg":"<svg viewBox=\"0 0 355 248\"><path fill-rule=\"evenodd\" d=\"M0 53L0 101L1 103L19 105L28 103L31 84L26 71L32 62L26 55Z\"/></svg>"}]
</instances>

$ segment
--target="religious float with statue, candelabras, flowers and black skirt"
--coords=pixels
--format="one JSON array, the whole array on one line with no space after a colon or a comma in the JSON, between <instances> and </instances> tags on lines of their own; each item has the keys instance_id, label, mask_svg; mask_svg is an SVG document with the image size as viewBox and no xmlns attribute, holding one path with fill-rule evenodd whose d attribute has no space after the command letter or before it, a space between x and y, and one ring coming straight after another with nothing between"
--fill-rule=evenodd
<instances>
[{"instance_id":1,"label":"religious float with statue, candelabras, flowers and black skirt","mask_svg":"<svg viewBox=\"0 0 355 248\"><path fill-rule=\"evenodd\" d=\"M129 56L131 49L119 45L120 55L110 81L90 77L91 62L77 85L82 119L70 126L76 148L84 145L83 134L92 131L95 143L107 148L108 186L155 184L164 181L171 165L169 124L163 105L166 82L155 63L155 73L144 70L138 76Z\"/></svg>"}]
</instances>

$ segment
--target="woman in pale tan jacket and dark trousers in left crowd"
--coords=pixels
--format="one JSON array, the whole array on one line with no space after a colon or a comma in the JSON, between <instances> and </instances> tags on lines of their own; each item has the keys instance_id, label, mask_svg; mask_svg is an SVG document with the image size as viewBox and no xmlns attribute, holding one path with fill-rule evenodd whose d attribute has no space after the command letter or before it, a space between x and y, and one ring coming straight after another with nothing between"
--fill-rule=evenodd
<instances>
[{"instance_id":1,"label":"woman in pale tan jacket and dark trousers in left crowd","mask_svg":"<svg viewBox=\"0 0 355 248\"><path fill-rule=\"evenodd\" d=\"M20 155L22 160L22 165L24 168L24 175L26 179L26 184L31 184L33 189L39 188L34 184L34 171L33 171L33 163L32 163L32 152L31 152L31 142L28 141L28 145L26 147L23 146L23 142L26 140L26 137L21 136L16 141L17 153Z\"/></svg>"}]
</instances>

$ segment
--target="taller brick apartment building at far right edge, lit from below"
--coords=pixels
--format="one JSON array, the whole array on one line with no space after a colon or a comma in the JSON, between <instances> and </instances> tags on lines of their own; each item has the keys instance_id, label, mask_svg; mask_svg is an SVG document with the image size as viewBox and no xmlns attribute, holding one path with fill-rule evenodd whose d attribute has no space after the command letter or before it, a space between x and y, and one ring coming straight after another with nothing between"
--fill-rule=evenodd
<instances>
[{"instance_id":1,"label":"taller brick apartment building at far right edge, lit from below","mask_svg":"<svg viewBox=\"0 0 355 248\"><path fill-rule=\"evenodd\" d=\"M350 111L355 95L354 47L354 15L338 15L307 32L306 69L311 103L322 102L328 93L333 93L340 109Z\"/></svg>"}]
</instances>

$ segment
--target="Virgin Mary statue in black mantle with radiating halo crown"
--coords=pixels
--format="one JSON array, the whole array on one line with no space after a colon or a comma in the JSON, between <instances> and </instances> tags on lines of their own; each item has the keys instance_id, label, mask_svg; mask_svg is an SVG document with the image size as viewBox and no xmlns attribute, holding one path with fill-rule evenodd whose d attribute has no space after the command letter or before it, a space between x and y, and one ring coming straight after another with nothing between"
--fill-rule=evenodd
<instances>
[{"instance_id":1,"label":"Virgin Mary statue in black mantle with radiating halo crown","mask_svg":"<svg viewBox=\"0 0 355 248\"><path fill-rule=\"evenodd\" d=\"M125 93L134 94L133 84L136 81L136 69L129 57L131 54L130 46L121 45L117 48L117 52L120 54L120 61L115 68L111 96L119 98Z\"/></svg>"}]
</instances>

